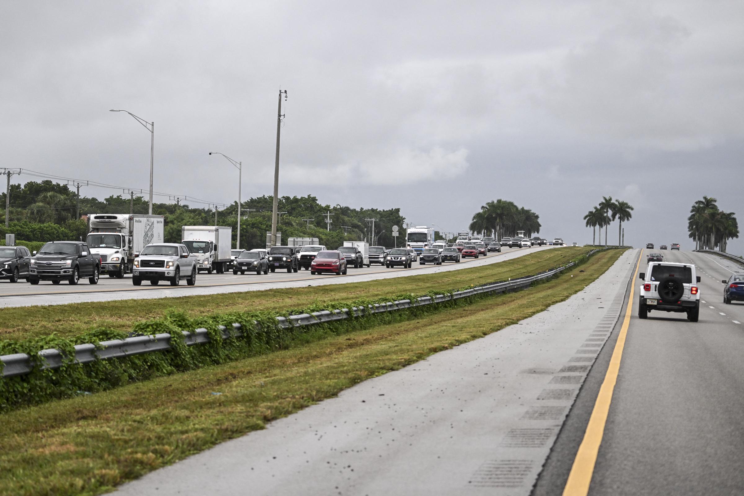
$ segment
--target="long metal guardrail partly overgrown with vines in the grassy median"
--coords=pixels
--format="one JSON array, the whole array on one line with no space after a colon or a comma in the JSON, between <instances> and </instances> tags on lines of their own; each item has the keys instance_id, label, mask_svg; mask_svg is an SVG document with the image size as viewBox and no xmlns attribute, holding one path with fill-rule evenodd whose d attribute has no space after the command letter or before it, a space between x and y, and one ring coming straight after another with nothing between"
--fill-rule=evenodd
<instances>
[{"instance_id":1,"label":"long metal guardrail partly overgrown with vines in the grassy median","mask_svg":"<svg viewBox=\"0 0 744 496\"><path fill-rule=\"evenodd\" d=\"M600 249L592 250L586 257L597 253ZM513 292L529 287L532 283L540 280L546 280L554 275L565 271L576 265L576 262L568 263L559 268L545 271L533 276L520 277L504 281L501 283L492 283L484 286L477 286L464 291L453 292L451 294L437 294L434 297L424 296L415 300L398 300L388 303L379 303L370 306L353 306L351 309L324 310L323 312L312 312L312 314L290 315L289 318L277 317L279 325L283 329L290 327L310 326L316 323L325 323L341 321L347 318L362 317L382 312L394 312L396 310L408 309L414 306L432 305L434 303L443 303L449 300L459 300L461 298L471 297L476 294L484 293L504 293ZM258 326L258 323L256 323ZM222 332L222 338L240 337L242 335L240 324L233 324L233 332L228 332L225 326L219 326ZM187 346L208 343L209 337L207 329L196 329L193 332L182 331L184 341ZM109 358L122 358L131 355L141 355L143 353L161 352L170 350L170 334L162 333L155 335L136 336L126 339L115 339L112 341L101 341L99 344L78 344L74 347L75 361L79 364L86 364L96 360L107 360ZM42 369L57 369L62 367L65 355L60 350L42 350L39 351L39 360L42 363ZM31 373L35 361L30 355L25 353L16 353L13 355L0 356L0 362L4 365L2 377L24 376Z\"/></svg>"}]
</instances>

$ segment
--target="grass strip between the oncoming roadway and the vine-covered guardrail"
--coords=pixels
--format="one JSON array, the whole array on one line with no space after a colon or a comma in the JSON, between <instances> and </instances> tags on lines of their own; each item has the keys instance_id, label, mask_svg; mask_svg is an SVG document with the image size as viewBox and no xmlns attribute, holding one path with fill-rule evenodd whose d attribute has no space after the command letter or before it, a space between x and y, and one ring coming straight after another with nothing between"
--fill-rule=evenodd
<instances>
[{"instance_id":1,"label":"grass strip between the oncoming roadway and the vine-covered guardrail","mask_svg":"<svg viewBox=\"0 0 744 496\"><path fill-rule=\"evenodd\" d=\"M52 333L61 338L73 338L83 332L100 328L128 332L135 323L161 317L168 309L186 312L190 317L234 311L280 312L286 309L308 308L315 304L374 299L406 292L416 294L442 292L471 284L478 285L536 274L563 265L568 260L589 251L591 248L554 248L478 268L365 283L0 309L0 339L40 338Z\"/></svg>"}]
</instances>

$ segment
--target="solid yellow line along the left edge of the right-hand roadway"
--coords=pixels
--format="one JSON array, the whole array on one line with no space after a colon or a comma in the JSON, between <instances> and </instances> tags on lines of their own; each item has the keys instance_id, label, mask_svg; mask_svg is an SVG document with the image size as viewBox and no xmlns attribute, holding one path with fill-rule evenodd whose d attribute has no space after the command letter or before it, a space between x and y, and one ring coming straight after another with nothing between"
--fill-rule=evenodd
<instances>
[{"instance_id":1,"label":"solid yellow line along the left edge of the right-hand roadway","mask_svg":"<svg viewBox=\"0 0 744 496\"><path fill-rule=\"evenodd\" d=\"M594 402L594 410L591 410L589 424L586 425L584 439L579 446L579 451L577 451L574 465L571 467L571 474L568 474L568 480L563 489L563 496L586 496L589 493L591 476L594 474L594 464L597 463L597 454L600 451L600 444L602 443L604 428L607 423L607 416L609 415L609 404L612 402L612 392L615 390L615 383L618 381L620 360L623 358L625 338L628 334L630 316L633 312L635 278L638 277L638 268L641 267L643 253L644 251L641 250L641 254L638 256L638 263L635 265L623 326L620 327L618 341L615 343L615 350L612 351L612 358L610 358L605 379L597 395L597 401Z\"/></svg>"}]
</instances>

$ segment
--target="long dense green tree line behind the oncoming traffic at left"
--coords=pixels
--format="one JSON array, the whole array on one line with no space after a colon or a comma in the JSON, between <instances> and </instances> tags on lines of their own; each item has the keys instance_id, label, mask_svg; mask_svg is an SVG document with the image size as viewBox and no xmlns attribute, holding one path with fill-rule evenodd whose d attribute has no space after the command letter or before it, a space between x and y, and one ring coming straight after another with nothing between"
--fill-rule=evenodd
<instances>
[{"instance_id":1,"label":"long dense green tree line behind the oncoming traffic at left","mask_svg":"<svg viewBox=\"0 0 744 496\"><path fill-rule=\"evenodd\" d=\"M4 204L5 194L0 194ZM241 204L240 247L257 248L266 244L266 231L271 231L272 196L259 196ZM109 196L99 200L80 196L67 184L53 181L29 181L10 187L10 224L0 227L0 234L15 233L16 239L46 242L52 240L74 240L87 233L86 221L77 218L91 213L138 213L148 212L147 200L142 196L133 198ZM332 214L330 230L323 214ZM4 226L4 210L0 210L0 226ZM400 208L380 210L376 208L353 208L340 204L320 204L315 196L282 196L279 198L277 231L282 241L289 237L315 237L329 248L343 245L344 241L367 239L380 245L394 245L391 228L403 228L405 218ZM237 240L237 202L217 209L190 207L188 204L153 203L153 213L165 218L164 239L180 242L183 225L225 225L232 228L233 242ZM372 223L376 219L374 233ZM403 231L403 229L401 229ZM375 239L372 239L374 234Z\"/></svg>"}]
</instances>

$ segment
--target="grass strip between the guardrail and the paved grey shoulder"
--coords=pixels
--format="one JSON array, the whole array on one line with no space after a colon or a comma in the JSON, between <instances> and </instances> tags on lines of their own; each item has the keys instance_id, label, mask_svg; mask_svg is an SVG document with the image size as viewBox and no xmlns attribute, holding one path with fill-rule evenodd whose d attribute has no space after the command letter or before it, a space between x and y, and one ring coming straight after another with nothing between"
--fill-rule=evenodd
<instances>
[{"instance_id":1,"label":"grass strip between the guardrail and the paved grey shoulder","mask_svg":"<svg viewBox=\"0 0 744 496\"><path fill-rule=\"evenodd\" d=\"M7 413L0 417L0 494L109 491L360 381L541 312L594 281L621 253L597 254L580 266L583 271L525 292Z\"/></svg>"}]
</instances>

